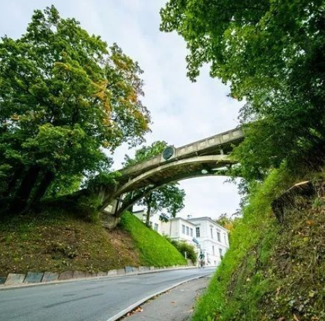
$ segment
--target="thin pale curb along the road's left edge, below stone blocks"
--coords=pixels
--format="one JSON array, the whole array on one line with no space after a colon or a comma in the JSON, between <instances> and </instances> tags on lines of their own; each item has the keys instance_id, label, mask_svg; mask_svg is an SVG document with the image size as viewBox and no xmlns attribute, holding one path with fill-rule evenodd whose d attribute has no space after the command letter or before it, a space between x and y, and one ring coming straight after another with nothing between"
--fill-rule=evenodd
<instances>
[{"instance_id":1,"label":"thin pale curb along the road's left edge, below stone blocks","mask_svg":"<svg viewBox=\"0 0 325 321\"><path fill-rule=\"evenodd\" d=\"M19 283L19 284L12 284L12 285L0 285L1 290L12 290L15 288L30 288L33 286L47 286L51 284L61 284L61 283L68 283L74 281L87 281L87 280L94 280L94 279L110 279L112 277L130 277L132 275L144 275L149 273L159 273L159 272L166 272L170 270L189 270L191 268L197 268L197 266L184 266L182 268L165 268L165 269L156 269L156 270L143 270L139 272L129 272L124 273L121 275L114 274L114 275L105 275L105 276L96 276L96 277L78 277L76 279L55 279L53 281L45 281L41 283Z\"/></svg>"}]
</instances>

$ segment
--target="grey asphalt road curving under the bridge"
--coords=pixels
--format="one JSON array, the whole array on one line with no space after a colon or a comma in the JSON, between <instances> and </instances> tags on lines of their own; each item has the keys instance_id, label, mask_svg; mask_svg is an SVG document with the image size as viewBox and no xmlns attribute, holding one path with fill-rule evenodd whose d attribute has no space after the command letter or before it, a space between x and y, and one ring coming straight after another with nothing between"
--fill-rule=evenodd
<instances>
[{"instance_id":1,"label":"grey asphalt road curving under the bridge","mask_svg":"<svg viewBox=\"0 0 325 321\"><path fill-rule=\"evenodd\" d=\"M1 321L107 321L128 306L214 268L171 270L0 290Z\"/></svg>"}]
</instances>

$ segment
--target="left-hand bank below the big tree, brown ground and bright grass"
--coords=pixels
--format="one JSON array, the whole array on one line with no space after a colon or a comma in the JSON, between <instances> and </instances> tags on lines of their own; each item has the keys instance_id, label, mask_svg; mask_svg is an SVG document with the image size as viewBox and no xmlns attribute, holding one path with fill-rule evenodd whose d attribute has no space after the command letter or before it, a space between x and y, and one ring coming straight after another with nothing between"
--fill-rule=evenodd
<instances>
[{"instance_id":1,"label":"left-hand bank below the big tree, brown ground and bright grass","mask_svg":"<svg viewBox=\"0 0 325 321\"><path fill-rule=\"evenodd\" d=\"M63 208L63 207L62 207ZM2 218L0 276L9 272L107 271L185 264L176 248L130 214L107 230L76 212L55 209Z\"/></svg>"}]
</instances>

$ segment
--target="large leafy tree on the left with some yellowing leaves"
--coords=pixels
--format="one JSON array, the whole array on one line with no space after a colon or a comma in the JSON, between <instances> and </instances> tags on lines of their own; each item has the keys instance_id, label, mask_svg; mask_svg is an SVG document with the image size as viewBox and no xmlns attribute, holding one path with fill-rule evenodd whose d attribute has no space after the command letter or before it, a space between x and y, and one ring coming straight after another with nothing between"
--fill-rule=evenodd
<instances>
[{"instance_id":1,"label":"large leafy tree on the left with some yellowing leaves","mask_svg":"<svg viewBox=\"0 0 325 321\"><path fill-rule=\"evenodd\" d=\"M35 10L19 39L0 41L0 193L12 211L60 177L107 171L123 142L148 132L142 71L54 6ZM105 152L106 150L106 152Z\"/></svg>"}]
</instances>

